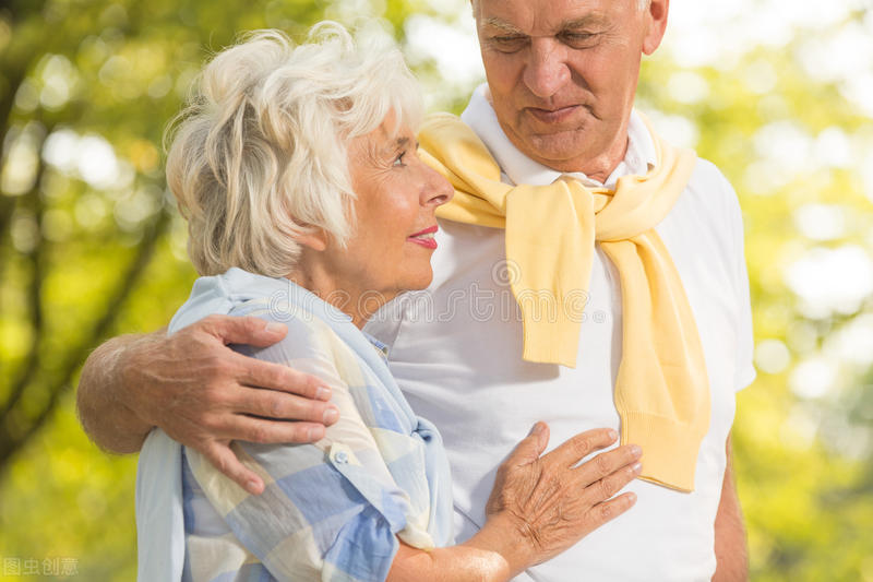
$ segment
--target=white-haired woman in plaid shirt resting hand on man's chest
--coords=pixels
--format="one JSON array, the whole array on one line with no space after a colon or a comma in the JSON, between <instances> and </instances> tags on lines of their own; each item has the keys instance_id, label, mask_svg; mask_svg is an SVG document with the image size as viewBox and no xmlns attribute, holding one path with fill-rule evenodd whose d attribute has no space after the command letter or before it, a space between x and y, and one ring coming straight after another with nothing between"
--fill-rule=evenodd
<instances>
[{"instance_id":1,"label":"white-haired woman in plaid shirt resting hand on man's chest","mask_svg":"<svg viewBox=\"0 0 873 582\"><path fill-rule=\"evenodd\" d=\"M154 431L137 477L141 580L506 580L631 506L605 502L636 474L629 448L577 466L614 435L540 456L540 425L503 465L485 527L452 545L440 436L360 331L431 281L434 209L453 190L418 158L420 118L398 51L356 47L336 24L296 48L261 32L205 68L167 163L203 275L170 332L211 313L286 323L279 344L238 349L324 379L340 419L314 444L234 443L260 496Z\"/></svg>"}]
</instances>

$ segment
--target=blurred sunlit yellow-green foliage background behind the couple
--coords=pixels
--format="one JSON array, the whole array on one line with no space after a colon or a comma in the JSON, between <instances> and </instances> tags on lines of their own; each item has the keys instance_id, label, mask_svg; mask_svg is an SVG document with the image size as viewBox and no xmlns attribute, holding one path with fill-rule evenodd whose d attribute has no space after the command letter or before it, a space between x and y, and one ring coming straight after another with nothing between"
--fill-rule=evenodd
<instances>
[{"instance_id":1,"label":"blurred sunlit yellow-green foliage background behind the couple","mask_svg":"<svg viewBox=\"0 0 873 582\"><path fill-rule=\"evenodd\" d=\"M227 5L225 5L227 4ZM382 19L431 109L482 69L465 0L17 0L0 9L0 580L133 580L134 458L82 433L101 340L194 278L162 132L241 31ZM873 5L673 0L637 106L734 185L757 381L734 454L754 580L873 581Z\"/></svg>"}]
</instances>

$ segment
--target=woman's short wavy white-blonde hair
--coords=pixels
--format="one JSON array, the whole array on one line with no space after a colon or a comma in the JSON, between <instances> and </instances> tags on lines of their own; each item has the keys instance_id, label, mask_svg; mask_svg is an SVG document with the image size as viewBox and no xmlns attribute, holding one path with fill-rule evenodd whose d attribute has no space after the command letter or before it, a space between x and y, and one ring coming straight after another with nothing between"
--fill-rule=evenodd
<instances>
[{"instance_id":1,"label":"woman's short wavy white-blonde hair","mask_svg":"<svg viewBox=\"0 0 873 582\"><path fill-rule=\"evenodd\" d=\"M354 226L348 142L394 111L415 130L420 90L384 34L313 26L294 46L258 31L202 71L174 123L167 182L188 219L201 275L238 266L286 276L296 235L323 230L344 245Z\"/></svg>"}]
</instances>

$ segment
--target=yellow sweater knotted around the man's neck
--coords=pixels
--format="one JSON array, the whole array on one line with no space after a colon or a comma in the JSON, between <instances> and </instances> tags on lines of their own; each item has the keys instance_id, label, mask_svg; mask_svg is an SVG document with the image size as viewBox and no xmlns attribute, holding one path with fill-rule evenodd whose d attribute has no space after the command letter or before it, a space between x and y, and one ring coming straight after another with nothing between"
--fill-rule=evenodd
<instances>
[{"instance_id":1,"label":"yellow sweater knotted around the man's neck","mask_svg":"<svg viewBox=\"0 0 873 582\"><path fill-rule=\"evenodd\" d=\"M649 131L657 166L646 176L619 178L614 192L570 177L549 186L505 185L481 140L452 115L430 116L418 139L424 162L455 188L438 216L506 230L525 360L575 368L595 241L600 244L621 280L614 393L621 442L642 447L642 478L692 491L709 429L709 381L694 314L655 225L685 189L696 155Z\"/></svg>"}]
</instances>

